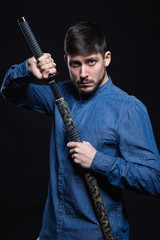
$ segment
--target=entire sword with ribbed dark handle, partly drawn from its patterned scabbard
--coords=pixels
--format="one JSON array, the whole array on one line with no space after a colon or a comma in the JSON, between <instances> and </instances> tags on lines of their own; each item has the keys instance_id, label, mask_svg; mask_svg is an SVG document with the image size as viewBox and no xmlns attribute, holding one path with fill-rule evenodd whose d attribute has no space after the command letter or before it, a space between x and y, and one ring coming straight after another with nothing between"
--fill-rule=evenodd
<instances>
[{"instance_id":1,"label":"entire sword with ribbed dark handle, partly drawn from its patterned scabbard","mask_svg":"<svg viewBox=\"0 0 160 240\"><path fill-rule=\"evenodd\" d=\"M43 55L43 52L35 39L31 28L29 27L27 21L24 17L18 19L18 23L21 27L21 30L33 52L33 55L36 59L38 59L40 56ZM59 109L59 112L62 116L62 119L64 121L68 136L70 141L73 142L82 142L82 139L80 137L79 131L76 127L76 124L73 120L71 111L69 109L69 106L65 99L61 96L59 89L57 88L57 85L53 78L49 79L49 85L52 89L52 92L56 99L56 105ZM95 208L95 212L98 218L98 221L100 223L104 240L114 240L113 232L111 229L111 225L109 223L108 215L106 212L106 208L103 202L103 199L100 194L100 190L98 187L98 183L96 178L91 173L85 173L84 178L86 180L86 184L88 186L90 196L92 198L92 202Z\"/></svg>"}]
</instances>

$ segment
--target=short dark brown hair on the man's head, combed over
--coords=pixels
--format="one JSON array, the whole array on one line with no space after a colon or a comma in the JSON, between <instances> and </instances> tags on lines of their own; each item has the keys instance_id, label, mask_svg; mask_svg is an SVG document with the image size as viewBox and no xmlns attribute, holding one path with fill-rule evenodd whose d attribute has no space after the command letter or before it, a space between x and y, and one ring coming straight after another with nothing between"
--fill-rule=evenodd
<instances>
[{"instance_id":1,"label":"short dark brown hair on the man's head, combed over","mask_svg":"<svg viewBox=\"0 0 160 240\"><path fill-rule=\"evenodd\" d=\"M106 39L100 26L91 22L80 22L71 26L64 39L66 55L101 53L107 51Z\"/></svg>"}]
</instances>

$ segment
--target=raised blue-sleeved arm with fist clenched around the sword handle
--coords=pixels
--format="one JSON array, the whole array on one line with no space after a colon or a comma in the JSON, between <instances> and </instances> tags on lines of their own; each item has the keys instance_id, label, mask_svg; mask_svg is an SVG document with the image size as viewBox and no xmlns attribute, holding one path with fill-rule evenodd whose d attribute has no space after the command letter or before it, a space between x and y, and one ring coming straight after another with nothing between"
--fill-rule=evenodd
<instances>
[{"instance_id":1,"label":"raised blue-sleeved arm with fist clenched around the sword handle","mask_svg":"<svg viewBox=\"0 0 160 240\"><path fill-rule=\"evenodd\" d=\"M13 65L5 75L1 86L2 95L21 107L46 113L47 97L51 96L48 86L32 84L35 78L47 79L56 73L56 64L50 54L44 54L37 61L34 57L21 64Z\"/></svg>"}]
</instances>

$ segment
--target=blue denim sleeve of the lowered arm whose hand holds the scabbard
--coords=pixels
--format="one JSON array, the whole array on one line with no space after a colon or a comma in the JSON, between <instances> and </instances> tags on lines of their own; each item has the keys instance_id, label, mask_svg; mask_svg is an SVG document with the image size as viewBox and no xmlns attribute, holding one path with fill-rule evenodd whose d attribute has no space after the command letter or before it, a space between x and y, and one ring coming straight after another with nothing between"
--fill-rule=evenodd
<instances>
[{"instance_id":1,"label":"blue denim sleeve of the lowered arm whose hand holds the scabbard","mask_svg":"<svg viewBox=\"0 0 160 240\"><path fill-rule=\"evenodd\" d=\"M106 175L110 184L160 194L160 157L151 122L143 104L129 108L117 130L118 157L98 151L91 169Z\"/></svg>"}]
</instances>

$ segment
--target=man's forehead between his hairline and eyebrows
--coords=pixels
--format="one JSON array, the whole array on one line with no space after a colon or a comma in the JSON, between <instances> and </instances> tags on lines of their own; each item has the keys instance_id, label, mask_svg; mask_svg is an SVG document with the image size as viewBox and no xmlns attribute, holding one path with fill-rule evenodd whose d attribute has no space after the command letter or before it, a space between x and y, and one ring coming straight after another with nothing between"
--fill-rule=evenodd
<instances>
[{"instance_id":1,"label":"man's forehead between his hairline and eyebrows","mask_svg":"<svg viewBox=\"0 0 160 240\"><path fill-rule=\"evenodd\" d=\"M82 55L82 54L70 54L67 56L68 61L86 61L87 59L99 59L102 58L100 53L93 53L90 55Z\"/></svg>"}]
</instances>

